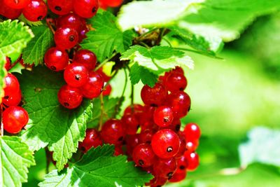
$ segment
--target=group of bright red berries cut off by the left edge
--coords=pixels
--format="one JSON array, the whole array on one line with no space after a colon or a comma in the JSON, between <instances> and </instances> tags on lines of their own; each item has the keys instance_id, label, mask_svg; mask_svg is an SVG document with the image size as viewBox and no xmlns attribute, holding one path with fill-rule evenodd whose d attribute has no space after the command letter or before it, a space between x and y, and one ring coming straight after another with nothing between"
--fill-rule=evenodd
<instances>
[{"instance_id":1,"label":"group of bright red berries cut off by the left edge","mask_svg":"<svg viewBox=\"0 0 280 187\"><path fill-rule=\"evenodd\" d=\"M10 59L6 57L5 68L10 69ZM3 107L3 129L6 132L15 134L22 130L22 127L27 125L29 116L27 111L20 105L22 100L22 92L20 90L20 83L18 78L13 74L8 73L4 78L5 88L4 97L2 98L1 107Z\"/></svg>"}]
</instances>

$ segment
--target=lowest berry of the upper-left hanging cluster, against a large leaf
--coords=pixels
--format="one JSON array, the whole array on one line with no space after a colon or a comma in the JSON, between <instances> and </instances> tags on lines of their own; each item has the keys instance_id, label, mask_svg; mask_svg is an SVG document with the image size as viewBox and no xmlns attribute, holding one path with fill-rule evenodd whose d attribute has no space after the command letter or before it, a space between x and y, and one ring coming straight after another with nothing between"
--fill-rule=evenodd
<instances>
[{"instance_id":1,"label":"lowest berry of the upper-left hanging cluster, against a large leaf","mask_svg":"<svg viewBox=\"0 0 280 187\"><path fill-rule=\"evenodd\" d=\"M83 102L83 95L78 88L63 85L58 94L58 101L67 109L75 109Z\"/></svg>"}]
</instances>

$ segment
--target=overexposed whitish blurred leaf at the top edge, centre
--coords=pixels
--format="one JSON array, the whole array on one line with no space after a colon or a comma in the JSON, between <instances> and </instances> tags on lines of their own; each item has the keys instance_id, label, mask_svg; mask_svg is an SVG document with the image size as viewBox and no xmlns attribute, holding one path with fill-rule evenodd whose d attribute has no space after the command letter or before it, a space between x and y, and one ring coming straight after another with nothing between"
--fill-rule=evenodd
<instances>
[{"instance_id":1,"label":"overexposed whitish blurred leaf at the top edge, centre","mask_svg":"<svg viewBox=\"0 0 280 187\"><path fill-rule=\"evenodd\" d=\"M172 25L185 15L193 4L203 0L133 1L120 8L118 23L123 30L134 27L163 27Z\"/></svg>"}]
</instances>

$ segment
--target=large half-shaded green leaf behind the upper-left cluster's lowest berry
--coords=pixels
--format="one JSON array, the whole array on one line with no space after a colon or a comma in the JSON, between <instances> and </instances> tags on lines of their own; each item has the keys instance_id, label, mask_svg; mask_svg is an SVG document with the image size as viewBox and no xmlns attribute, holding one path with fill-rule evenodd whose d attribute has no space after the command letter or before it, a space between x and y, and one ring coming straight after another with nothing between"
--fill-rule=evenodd
<instances>
[{"instance_id":1,"label":"large half-shaded green leaf behind the upper-left cluster's lowest berry","mask_svg":"<svg viewBox=\"0 0 280 187\"><path fill-rule=\"evenodd\" d=\"M87 120L92 117L92 103L85 99L78 109L65 109L57 100L57 92L64 85L61 73L45 67L22 71L18 75L24 98L23 107L29 113L29 123L21 137L31 150L48 146L59 170L71 158L83 141Z\"/></svg>"}]
</instances>

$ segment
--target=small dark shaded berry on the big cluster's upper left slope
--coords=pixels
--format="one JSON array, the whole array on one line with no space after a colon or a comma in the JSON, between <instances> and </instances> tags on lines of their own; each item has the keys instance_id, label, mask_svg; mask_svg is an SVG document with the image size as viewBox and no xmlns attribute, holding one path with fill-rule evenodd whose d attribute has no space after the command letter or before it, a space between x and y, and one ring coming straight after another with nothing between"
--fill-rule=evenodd
<instances>
[{"instance_id":1,"label":"small dark shaded berry on the big cluster's upper left slope","mask_svg":"<svg viewBox=\"0 0 280 187\"><path fill-rule=\"evenodd\" d=\"M122 122L126 134L136 134L137 130L140 127L139 121L137 120L136 116L133 114L127 114L123 116Z\"/></svg>"}]
</instances>

